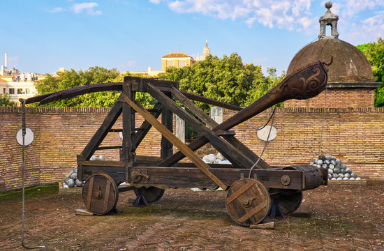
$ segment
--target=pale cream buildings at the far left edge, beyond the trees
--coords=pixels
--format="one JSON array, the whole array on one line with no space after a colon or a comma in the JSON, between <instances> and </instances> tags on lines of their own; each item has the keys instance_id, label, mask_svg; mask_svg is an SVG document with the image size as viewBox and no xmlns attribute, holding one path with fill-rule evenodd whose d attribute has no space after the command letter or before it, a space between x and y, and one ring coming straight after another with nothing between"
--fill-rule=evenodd
<instances>
[{"instance_id":1,"label":"pale cream buildings at the far left edge, beyond the trees","mask_svg":"<svg viewBox=\"0 0 384 251\"><path fill-rule=\"evenodd\" d=\"M20 105L19 98L27 99L38 94L34 81L44 78L45 75L37 73L20 73L15 66L8 69L8 57L5 54L5 65L0 70L0 93L7 93L11 101Z\"/></svg>"}]
</instances>

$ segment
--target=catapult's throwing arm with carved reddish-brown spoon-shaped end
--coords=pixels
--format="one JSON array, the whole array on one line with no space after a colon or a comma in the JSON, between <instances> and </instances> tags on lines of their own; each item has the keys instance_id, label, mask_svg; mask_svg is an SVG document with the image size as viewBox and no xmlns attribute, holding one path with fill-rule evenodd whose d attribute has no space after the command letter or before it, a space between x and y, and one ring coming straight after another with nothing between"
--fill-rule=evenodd
<instances>
[{"instance_id":1,"label":"catapult's throwing arm with carved reddish-brown spoon-shaped end","mask_svg":"<svg viewBox=\"0 0 384 251\"><path fill-rule=\"evenodd\" d=\"M327 69L324 63L316 62L304 68L298 69L295 73L288 75L280 84L269 90L264 96L245 107L237 114L231 116L226 121L223 121L219 126L212 128L214 132L217 130L230 130L239 123L250 119L265 109L272 107L289 99L306 99L317 96L325 89L327 85ZM193 151L207 144L209 140L205 137L200 137L189 144L189 148ZM174 165L179 160L182 160L184 155L179 151L170 158L161 162L163 166ZM256 166L256 168L258 168Z\"/></svg>"}]
</instances>

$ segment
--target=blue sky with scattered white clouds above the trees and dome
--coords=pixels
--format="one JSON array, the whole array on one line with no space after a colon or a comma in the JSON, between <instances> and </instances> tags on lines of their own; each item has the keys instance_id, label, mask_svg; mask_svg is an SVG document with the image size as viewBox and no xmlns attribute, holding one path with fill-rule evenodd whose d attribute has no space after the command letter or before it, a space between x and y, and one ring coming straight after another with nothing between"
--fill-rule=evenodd
<instances>
[{"instance_id":1,"label":"blue sky with scattered white clouds above the trees and dome","mask_svg":"<svg viewBox=\"0 0 384 251\"><path fill-rule=\"evenodd\" d=\"M12 0L1 1L0 65L8 54L27 73L92 66L161 70L161 56L237 53L243 63L286 70L317 40L326 1L313 0ZM384 0L333 1L339 39L384 37ZM327 26L327 34L330 26Z\"/></svg>"}]
</instances>

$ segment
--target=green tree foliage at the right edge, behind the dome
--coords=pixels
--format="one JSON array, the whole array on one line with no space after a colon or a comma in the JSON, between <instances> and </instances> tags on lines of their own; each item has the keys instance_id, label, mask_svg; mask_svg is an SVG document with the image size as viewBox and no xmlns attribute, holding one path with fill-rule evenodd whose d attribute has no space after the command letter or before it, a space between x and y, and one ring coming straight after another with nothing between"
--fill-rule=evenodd
<instances>
[{"instance_id":1,"label":"green tree foliage at the right edge, behind the dome","mask_svg":"<svg viewBox=\"0 0 384 251\"><path fill-rule=\"evenodd\" d=\"M384 107L384 40L378 38L377 42L357 45L368 59L374 73L375 81L381 82L381 86L375 92L375 106Z\"/></svg>"}]
</instances>

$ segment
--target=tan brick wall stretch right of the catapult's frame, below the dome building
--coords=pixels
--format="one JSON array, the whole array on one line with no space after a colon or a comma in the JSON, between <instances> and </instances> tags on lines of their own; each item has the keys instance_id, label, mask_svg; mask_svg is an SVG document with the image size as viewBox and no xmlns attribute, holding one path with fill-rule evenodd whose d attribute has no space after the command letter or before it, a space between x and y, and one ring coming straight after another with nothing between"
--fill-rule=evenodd
<instances>
[{"instance_id":1,"label":"tan brick wall stretch right of the catapult's frame, below the dome building","mask_svg":"<svg viewBox=\"0 0 384 251\"><path fill-rule=\"evenodd\" d=\"M224 119L234 112L224 109ZM269 119L272 108L250 121L255 128ZM267 144L263 159L272 166L309 164L319 147L334 155L359 176L384 180L384 108L278 108L274 119L277 137ZM236 137L256 154L265 142L246 121L234 128ZM320 132L323 137L320 142Z\"/></svg>"}]
</instances>

